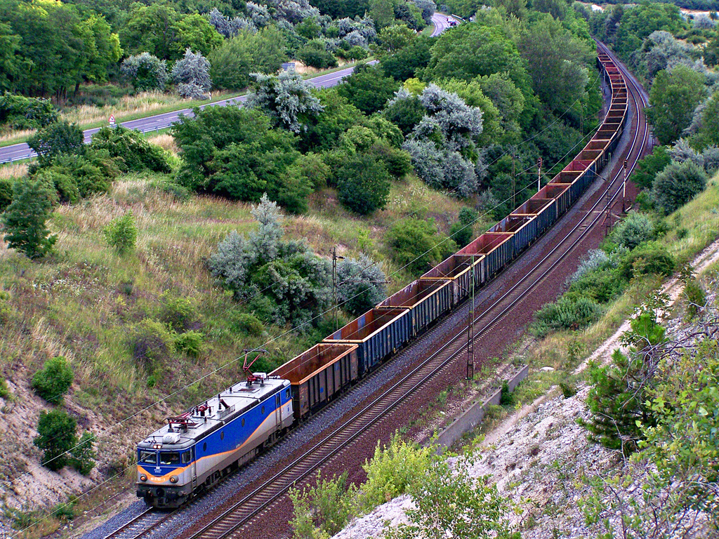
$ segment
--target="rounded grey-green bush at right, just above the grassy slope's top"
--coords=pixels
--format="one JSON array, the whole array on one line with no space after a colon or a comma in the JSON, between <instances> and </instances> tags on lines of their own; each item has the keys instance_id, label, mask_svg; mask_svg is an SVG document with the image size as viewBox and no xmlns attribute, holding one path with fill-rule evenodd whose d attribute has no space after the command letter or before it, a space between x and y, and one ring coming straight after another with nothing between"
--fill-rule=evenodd
<instances>
[{"instance_id":1,"label":"rounded grey-green bush at right, just above the grassy slope's top","mask_svg":"<svg viewBox=\"0 0 719 539\"><path fill-rule=\"evenodd\" d=\"M701 193L706 184L706 172L694 162L673 162L654 178L652 195L664 213L672 213Z\"/></svg>"}]
</instances>

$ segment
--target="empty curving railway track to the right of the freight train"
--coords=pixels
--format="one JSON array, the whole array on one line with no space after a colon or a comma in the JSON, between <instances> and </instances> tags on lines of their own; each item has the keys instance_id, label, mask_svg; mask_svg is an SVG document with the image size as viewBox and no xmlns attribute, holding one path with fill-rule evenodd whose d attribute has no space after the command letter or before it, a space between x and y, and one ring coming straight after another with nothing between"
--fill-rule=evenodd
<instances>
[{"instance_id":1,"label":"empty curving railway track to the right of the freight train","mask_svg":"<svg viewBox=\"0 0 719 539\"><path fill-rule=\"evenodd\" d=\"M613 57L606 47L599 45ZM620 66L617 60L615 63ZM636 161L644 153L646 142L649 139L649 129L642 116L642 109L646 105L644 96L628 76L626 69L621 66L620 70L622 70L627 88L631 87L631 103L633 103L633 118L630 128L633 135L628 151L626 151L628 175L636 166ZM608 180L608 185L605 186L602 195L586 211L580 222L559 241L557 248L541 259L533 270L522 277L498 300L495 300L489 308L477 315L473 323L473 339L480 338L495 329L521 298L534 287L541 285L551 275L552 270L595 229L595 226L604 217L605 211L613 208L618 202L622 192L622 181L620 180L623 180L621 167L615 172L613 178ZM588 196L585 195L582 197L582 201L587 198ZM582 201L579 201L578 204ZM320 466L329 463L341 453L343 448L349 446L359 436L370 433L377 425L388 420L391 410L408 397L415 395L431 379L451 367L454 361L462 358L466 349L466 338L467 333L464 328L457 331L439 350L426 358L412 372L406 374L406 377L391 385L382 395L370 402L344 425L336 428L323 441L317 443L188 537L191 539L226 539L241 536L245 527L253 522L255 517L265 512L289 489L311 476ZM417 346L417 344L413 346Z\"/></svg>"}]
</instances>

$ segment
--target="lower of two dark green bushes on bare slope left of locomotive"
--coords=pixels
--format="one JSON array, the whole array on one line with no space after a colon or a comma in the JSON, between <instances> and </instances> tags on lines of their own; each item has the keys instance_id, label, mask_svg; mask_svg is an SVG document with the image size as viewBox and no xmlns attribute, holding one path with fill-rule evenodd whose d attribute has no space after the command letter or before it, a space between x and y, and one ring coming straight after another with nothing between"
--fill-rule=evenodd
<instances>
[{"instance_id":1,"label":"lower of two dark green bushes on bare slope left of locomotive","mask_svg":"<svg viewBox=\"0 0 719 539\"><path fill-rule=\"evenodd\" d=\"M75 435L77 425L77 421L63 410L40 412L37 436L33 438L32 443L43 451L43 466L58 471L69 464L70 451L77 443Z\"/></svg>"}]
</instances>

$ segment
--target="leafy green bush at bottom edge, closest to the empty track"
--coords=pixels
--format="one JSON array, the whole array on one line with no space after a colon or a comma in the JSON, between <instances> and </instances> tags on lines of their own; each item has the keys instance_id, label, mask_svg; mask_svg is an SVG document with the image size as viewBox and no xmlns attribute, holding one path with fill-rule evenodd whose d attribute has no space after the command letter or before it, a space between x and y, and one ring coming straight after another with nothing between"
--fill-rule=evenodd
<instances>
[{"instance_id":1,"label":"leafy green bush at bottom edge, closest to the empty track","mask_svg":"<svg viewBox=\"0 0 719 539\"><path fill-rule=\"evenodd\" d=\"M290 520L294 539L329 538L344 528L352 511L347 494L347 472L332 479L317 474L314 487L290 489L294 517Z\"/></svg>"}]
</instances>

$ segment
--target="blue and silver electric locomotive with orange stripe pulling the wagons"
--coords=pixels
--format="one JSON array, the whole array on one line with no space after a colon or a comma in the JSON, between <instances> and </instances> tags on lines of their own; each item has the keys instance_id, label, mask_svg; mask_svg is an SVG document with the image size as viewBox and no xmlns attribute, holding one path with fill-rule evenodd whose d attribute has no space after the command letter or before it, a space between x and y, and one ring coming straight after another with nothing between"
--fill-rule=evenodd
<instances>
[{"instance_id":1,"label":"blue and silver electric locomotive with orange stripe pulling the wagons","mask_svg":"<svg viewBox=\"0 0 719 539\"><path fill-rule=\"evenodd\" d=\"M275 442L293 422L288 380L252 375L137 444L137 497L180 507Z\"/></svg>"}]
</instances>

